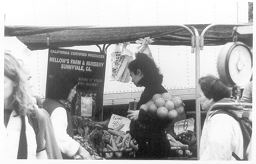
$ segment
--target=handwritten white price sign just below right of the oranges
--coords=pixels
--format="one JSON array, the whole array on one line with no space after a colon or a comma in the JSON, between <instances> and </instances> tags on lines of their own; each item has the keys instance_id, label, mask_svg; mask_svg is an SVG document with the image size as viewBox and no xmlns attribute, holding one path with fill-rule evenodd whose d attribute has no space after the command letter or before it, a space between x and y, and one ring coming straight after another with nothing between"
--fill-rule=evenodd
<instances>
[{"instance_id":1,"label":"handwritten white price sign just below right of the oranges","mask_svg":"<svg viewBox=\"0 0 256 164\"><path fill-rule=\"evenodd\" d=\"M186 132L187 130L194 131L194 122L195 120L193 118L177 121L176 123L174 123L173 128L175 134L181 134L183 132Z\"/></svg>"}]
</instances>

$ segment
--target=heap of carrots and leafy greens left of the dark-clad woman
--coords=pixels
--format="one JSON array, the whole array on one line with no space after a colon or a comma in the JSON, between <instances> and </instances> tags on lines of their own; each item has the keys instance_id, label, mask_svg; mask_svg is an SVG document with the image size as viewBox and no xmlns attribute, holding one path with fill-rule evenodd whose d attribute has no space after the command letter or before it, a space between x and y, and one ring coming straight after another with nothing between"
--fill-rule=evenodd
<instances>
[{"instance_id":1,"label":"heap of carrots and leafy greens left of the dark-clad woman","mask_svg":"<svg viewBox=\"0 0 256 164\"><path fill-rule=\"evenodd\" d=\"M109 120L104 122L95 122L88 118L73 116L74 134L81 136L77 142L80 143L93 157L93 159L121 158L124 156L133 157L134 152L138 150L138 144L133 139L128 145L128 139L125 141L125 146L122 146L122 141L125 133L120 131L124 126L121 125L115 129L109 129Z\"/></svg>"}]
</instances>

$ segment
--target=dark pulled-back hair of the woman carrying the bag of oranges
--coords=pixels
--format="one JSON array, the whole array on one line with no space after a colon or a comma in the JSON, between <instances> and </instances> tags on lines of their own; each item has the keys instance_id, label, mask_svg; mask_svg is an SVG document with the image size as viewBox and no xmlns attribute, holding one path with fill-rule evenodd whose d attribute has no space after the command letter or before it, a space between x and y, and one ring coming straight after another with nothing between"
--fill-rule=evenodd
<instances>
[{"instance_id":1,"label":"dark pulled-back hair of the woman carrying the bag of oranges","mask_svg":"<svg viewBox=\"0 0 256 164\"><path fill-rule=\"evenodd\" d=\"M138 52L136 59L128 64L128 69L137 75L137 70L144 74L144 81L156 82L162 84L163 75L159 73L159 68L156 67L155 61L151 60L146 54Z\"/></svg>"}]
</instances>

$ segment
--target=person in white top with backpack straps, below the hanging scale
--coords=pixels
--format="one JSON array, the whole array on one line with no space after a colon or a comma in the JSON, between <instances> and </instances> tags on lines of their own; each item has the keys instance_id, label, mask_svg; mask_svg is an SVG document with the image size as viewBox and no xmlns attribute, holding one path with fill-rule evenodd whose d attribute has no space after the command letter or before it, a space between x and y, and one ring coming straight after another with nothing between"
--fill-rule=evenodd
<instances>
[{"instance_id":1,"label":"person in white top with backpack straps, below the hanging scale","mask_svg":"<svg viewBox=\"0 0 256 164\"><path fill-rule=\"evenodd\" d=\"M231 89L226 87L219 78L207 75L199 78L199 93L203 111L217 102L235 102L231 97ZM200 160L236 160L232 153L243 158L244 145L240 124L232 116L216 111L206 116L200 139Z\"/></svg>"}]
</instances>

